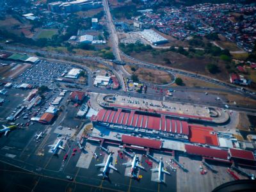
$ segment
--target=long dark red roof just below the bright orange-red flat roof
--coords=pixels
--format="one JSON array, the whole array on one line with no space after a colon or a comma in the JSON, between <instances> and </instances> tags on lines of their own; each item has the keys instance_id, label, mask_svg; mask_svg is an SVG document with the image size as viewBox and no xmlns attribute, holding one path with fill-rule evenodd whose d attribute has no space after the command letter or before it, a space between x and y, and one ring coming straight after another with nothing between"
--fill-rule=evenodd
<instances>
[{"instance_id":1,"label":"long dark red roof just below the bright orange-red flat roof","mask_svg":"<svg viewBox=\"0 0 256 192\"><path fill-rule=\"evenodd\" d=\"M185 145L188 154L195 154L198 156L214 157L218 159L228 159L228 152L215 148L199 147L195 145Z\"/></svg>"}]
</instances>

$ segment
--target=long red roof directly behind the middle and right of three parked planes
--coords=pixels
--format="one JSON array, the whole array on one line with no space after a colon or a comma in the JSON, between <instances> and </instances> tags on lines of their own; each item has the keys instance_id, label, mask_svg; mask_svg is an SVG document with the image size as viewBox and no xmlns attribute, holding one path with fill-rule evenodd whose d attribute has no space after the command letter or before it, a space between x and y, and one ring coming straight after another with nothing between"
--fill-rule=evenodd
<instances>
[{"instance_id":1,"label":"long red roof directly behind the middle and right of three parked planes","mask_svg":"<svg viewBox=\"0 0 256 192\"><path fill-rule=\"evenodd\" d=\"M137 138L134 136L122 135L122 142L130 145L138 145L149 148L160 149L162 147L162 141L150 140L145 138Z\"/></svg>"}]
</instances>

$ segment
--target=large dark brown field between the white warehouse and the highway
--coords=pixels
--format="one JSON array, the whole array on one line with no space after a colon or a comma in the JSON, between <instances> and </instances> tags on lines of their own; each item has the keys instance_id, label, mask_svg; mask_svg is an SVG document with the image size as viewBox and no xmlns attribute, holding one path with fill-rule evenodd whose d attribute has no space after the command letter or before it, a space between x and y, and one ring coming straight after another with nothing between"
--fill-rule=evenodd
<instances>
[{"instance_id":1,"label":"large dark brown field between the white warehouse and the highway","mask_svg":"<svg viewBox=\"0 0 256 192\"><path fill-rule=\"evenodd\" d=\"M229 77L227 69L225 68L225 63L223 61L216 60L215 58L188 58L182 54L172 51L157 51L156 56L153 56L150 51L143 51L138 53L132 52L131 56L141 61L147 61L148 63L179 68L198 74L204 74L206 76L210 76L223 81L228 81ZM172 63L168 64L164 62L164 58L168 58ZM216 65L218 65L218 67L220 68L220 72L217 74L210 74L205 69L205 66L208 63L215 63Z\"/></svg>"}]
</instances>

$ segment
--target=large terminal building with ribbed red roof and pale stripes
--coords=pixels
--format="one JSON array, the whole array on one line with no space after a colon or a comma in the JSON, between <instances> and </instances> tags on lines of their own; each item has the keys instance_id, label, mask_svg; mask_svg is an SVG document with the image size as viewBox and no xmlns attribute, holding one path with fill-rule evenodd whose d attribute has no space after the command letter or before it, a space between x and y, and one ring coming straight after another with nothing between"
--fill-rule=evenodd
<instances>
[{"instance_id":1,"label":"large terminal building with ribbed red roof and pale stripes","mask_svg":"<svg viewBox=\"0 0 256 192\"><path fill-rule=\"evenodd\" d=\"M137 132L148 136L188 140L188 122L175 120L168 115L153 114L129 109L101 109L91 118L94 126L118 131Z\"/></svg>"}]
</instances>

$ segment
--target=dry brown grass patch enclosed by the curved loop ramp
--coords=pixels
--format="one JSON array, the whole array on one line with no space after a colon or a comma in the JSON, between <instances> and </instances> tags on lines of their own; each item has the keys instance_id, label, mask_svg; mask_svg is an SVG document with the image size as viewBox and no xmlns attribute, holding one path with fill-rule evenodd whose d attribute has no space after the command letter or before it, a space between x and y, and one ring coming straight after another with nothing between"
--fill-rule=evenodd
<instances>
[{"instance_id":1,"label":"dry brown grass patch enclosed by the curved loop ramp","mask_svg":"<svg viewBox=\"0 0 256 192\"><path fill-rule=\"evenodd\" d=\"M125 65L125 69L129 74L132 74L131 66ZM138 68L134 74L136 74L142 81L150 83L166 84L172 81L172 77L168 72L163 70L155 70L150 68Z\"/></svg>"}]
</instances>

